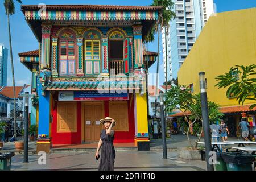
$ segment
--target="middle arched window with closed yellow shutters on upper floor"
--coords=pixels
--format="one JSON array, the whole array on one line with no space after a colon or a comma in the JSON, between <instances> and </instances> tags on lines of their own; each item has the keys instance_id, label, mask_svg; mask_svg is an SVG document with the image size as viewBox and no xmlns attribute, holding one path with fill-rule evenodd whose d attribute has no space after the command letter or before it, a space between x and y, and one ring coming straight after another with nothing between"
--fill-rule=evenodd
<instances>
[{"instance_id":1,"label":"middle arched window with closed yellow shutters on upper floor","mask_svg":"<svg viewBox=\"0 0 256 182\"><path fill-rule=\"evenodd\" d=\"M89 28L84 32L86 75L97 75L101 72L101 38L102 34L96 28Z\"/></svg>"}]
</instances>

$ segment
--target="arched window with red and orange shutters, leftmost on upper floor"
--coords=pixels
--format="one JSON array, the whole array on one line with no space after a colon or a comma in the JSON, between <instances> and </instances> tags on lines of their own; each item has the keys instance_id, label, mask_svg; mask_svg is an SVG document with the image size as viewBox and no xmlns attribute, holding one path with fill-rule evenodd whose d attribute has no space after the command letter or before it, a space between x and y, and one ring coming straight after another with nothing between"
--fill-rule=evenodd
<instances>
[{"instance_id":1,"label":"arched window with red and orange shutters, leftmost on upper floor","mask_svg":"<svg viewBox=\"0 0 256 182\"><path fill-rule=\"evenodd\" d=\"M59 74L76 74L76 33L65 28L59 34Z\"/></svg>"}]
</instances>

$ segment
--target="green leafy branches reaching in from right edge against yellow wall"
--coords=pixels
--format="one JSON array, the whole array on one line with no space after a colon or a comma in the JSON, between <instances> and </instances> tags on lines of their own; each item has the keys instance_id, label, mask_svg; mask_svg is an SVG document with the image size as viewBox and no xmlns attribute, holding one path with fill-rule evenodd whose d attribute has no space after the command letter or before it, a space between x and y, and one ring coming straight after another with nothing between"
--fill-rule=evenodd
<instances>
[{"instance_id":1,"label":"green leafy branches reaching in from right edge against yellow wall","mask_svg":"<svg viewBox=\"0 0 256 182\"><path fill-rule=\"evenodd\" d=\"M226 97L236 97L238 104L244 104L246 100L256 101L256 68L255 64L244 67L236 65L236 68L230 68L225 75L217 76L215 79L218 83L215 86L218 88L226 88ZM240 68L240 69L239 69ZM250 106L250 109L256 107L256 104Z\"/></svg>"}]
</instances>

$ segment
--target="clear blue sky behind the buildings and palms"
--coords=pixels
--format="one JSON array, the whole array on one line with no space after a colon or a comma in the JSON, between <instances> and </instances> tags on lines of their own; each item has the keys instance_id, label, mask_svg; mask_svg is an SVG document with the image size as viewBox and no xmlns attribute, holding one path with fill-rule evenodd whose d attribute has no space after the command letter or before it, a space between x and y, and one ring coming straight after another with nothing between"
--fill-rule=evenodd
<instances>
[{"instance_id":1,"label":"clear blue sky behind the buildings and palms","mask_svg":"<svg viewBox=\"0 0 256 182\"><path fill-rule=\"evenodd\" d=\"M14 0L15 1L15 0ZM7 16L5 15L5 10L3 8L3 1L0 3L0 44L3 44L9 49L9 38L7 30ZM39 3L45 3L46 5L50 4L94 4L94 5L133 5L133 6L146 6L151 5L152 0L87 0L87 1L67 1L67 0L23 0L24 4L27 5L37 5ZM255 0L214 0L217 7L217 13L223 11L232 11L238 9L246 9L250 7L256 7ZM23 64L20 63L18 53L26 52L38 49L38 41L35 39L34 34L28 27L24 19L23 13L20 11L20 5L16 3L16 13L13 16L10 16L11 22L11 35L13 43L13 59L14 59L14 71L15 71L15 84L16 86L21 86L23 84L31 84L31 72L28 71ZM157 52L157 36L155 35L155 42L148 44L148 49L150 51ZM162 39L160 39L162 40ZM162 42L160 42L162 45ZM160 47L160 51L162 47ZM10 52L9 52L10 57ZM164 67L163 67L163 55L160 52L160 67L159 67L159 84L164 82ZM156 63L151 66L150 73L156 72ZM8 73L7 73L7 86L12 86L11 81L11 64L10 58L8 62Z\"/></svg>"}]
</instances>

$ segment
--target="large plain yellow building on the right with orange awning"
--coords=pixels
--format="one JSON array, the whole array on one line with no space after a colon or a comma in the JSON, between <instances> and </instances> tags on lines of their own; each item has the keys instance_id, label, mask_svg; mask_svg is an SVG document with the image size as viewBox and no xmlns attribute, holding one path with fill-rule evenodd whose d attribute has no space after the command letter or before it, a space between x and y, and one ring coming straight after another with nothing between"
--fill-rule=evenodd
<instances>
[{"instance_id":1,"label":"large plain yellow building on the right with orange awning","mask_svg":"<svg viewBox=\"0 0 256 182\"><path fill-rule=\"evenodd\" d=\"M248 117L253 117L250 125L255 126L256 108L249 112L249 105L255 101L246 100L244 106L238 106L235 98L226 97L226 89L214 87L217 84L215 78L229 72L235 65L246 66L255 63L256 8L214 14L209 18L181 66L178 73L179 84L190 85L193 93L199 93L198 74L205 72L208 100L221 105L221 111L228 118L226 121L238 131L235 124L240 121L243 111Z\"/></svg>"}]
</instances>

